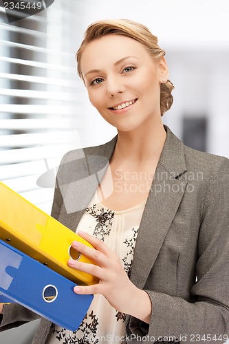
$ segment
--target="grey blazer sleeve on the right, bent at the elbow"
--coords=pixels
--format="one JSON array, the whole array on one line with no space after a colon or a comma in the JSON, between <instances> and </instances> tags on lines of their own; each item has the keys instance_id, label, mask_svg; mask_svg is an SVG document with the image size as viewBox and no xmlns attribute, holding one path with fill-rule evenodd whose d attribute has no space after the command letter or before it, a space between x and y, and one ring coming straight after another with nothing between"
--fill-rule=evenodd
<instances>
[{"instance_id":1,"label":"grey blazer sleeve on the right, bent at the elbow","mask_svg":"<svg viewBox=\"0 0 229 344\"><path fill-rule=\"evenodd\" d=\"M150 343L225 343L229 339L229 160L212 166L199 228L192 302L146 290L150 325L130 317L129 336ZM164 338L164 341L162 341ZM142 340L142 343L144 342Z\"/></svg>"}]
</instances>

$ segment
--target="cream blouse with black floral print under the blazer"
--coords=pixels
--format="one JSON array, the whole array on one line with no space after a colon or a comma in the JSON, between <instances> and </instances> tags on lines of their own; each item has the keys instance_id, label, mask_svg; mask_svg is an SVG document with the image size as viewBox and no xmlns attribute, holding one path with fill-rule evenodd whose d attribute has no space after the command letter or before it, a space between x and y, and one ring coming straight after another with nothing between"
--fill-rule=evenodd
<instances>
[{"instance_id":1,"label":"cream blouse with black floral print under the blazer","mask_svg":"<svg viewBox=\"0 0 229 344\"><path fill-rule=\"evenodd\" d=\"M145 204L146 201L124 211L111 211L99 202L95 193L77 228L104 241L116 252L128 276ZM117 312L105 297L96 294L77 331L65 330L53 324L46 343L121 344L124 343L125 319L125 314Z\"/></svg>"}]
</instances>

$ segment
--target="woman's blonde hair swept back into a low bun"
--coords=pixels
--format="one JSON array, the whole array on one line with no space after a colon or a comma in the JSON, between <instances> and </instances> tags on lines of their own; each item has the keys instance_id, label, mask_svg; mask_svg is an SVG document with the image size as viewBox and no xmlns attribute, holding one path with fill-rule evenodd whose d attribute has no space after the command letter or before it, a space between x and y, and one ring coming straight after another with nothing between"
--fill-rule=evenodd
<instances>
[{"instance_id":1,"label":"woman's blonde hair swept back into a low bun","mask_svg":"<svg viewBox=\"0 0 229 344\"><path fill-rule=\"evenodd\" d=\"M81 43L78 52L76 52L76 61L78 75L83 79L83 74L81 71L80 61L83 54L83 50L86 45L91 41L99 39L102 36L107 34L122 34L124 36L135 39L144 45L149 54L157 59L165 55L165 51L160 48L157 44L157 37L154 36L145 25L136 23L135 21L130 21L127 19L117 19L117 20L101 20L96 21L89 25L85 32L83 42ZM166 83L161 84L160 91L160 109L161 116L164 115L166 111L171 108L173 104L173 96L171 92L173 91L174 86L170 80L167 80Z\"/></svg>"}]
</instances>

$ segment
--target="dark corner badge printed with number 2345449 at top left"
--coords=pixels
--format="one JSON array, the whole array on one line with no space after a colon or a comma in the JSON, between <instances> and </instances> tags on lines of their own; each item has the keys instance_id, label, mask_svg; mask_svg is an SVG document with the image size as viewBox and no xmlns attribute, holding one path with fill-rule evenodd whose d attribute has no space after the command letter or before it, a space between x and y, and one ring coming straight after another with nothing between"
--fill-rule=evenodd
<instances>
[{"instance_id":1,"label":"dark corner badge printed with number 2345449 at top left","mask_svg":"<svg viewBox=\"0 0 229 344\"><path fill-rule=\"evenodd\" d=\"M0 0L0 6L5 8L8 22L18 21L46 10L54 0Z\"/></svg>"}]
</instances>

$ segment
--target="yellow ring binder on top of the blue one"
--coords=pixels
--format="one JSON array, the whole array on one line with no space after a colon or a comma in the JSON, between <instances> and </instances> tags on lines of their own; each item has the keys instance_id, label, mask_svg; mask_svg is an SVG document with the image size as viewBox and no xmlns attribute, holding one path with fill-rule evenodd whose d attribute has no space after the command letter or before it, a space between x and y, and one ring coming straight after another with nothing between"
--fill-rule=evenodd
<instances>
[{"instance_id":1,"label":"yellow ring binder on top of the blue one","mask_svg":"<svg viewBox=\"0 0 229 344\"><path fill-rule=\"evenodd\" d=\"M0 239L74 283L79 285L98 283L96 277L67 266L69 257L94 264L93 261L73 250L72 241L93 246L2 182L0 182Z\"/></svg>"}]
</instances>

